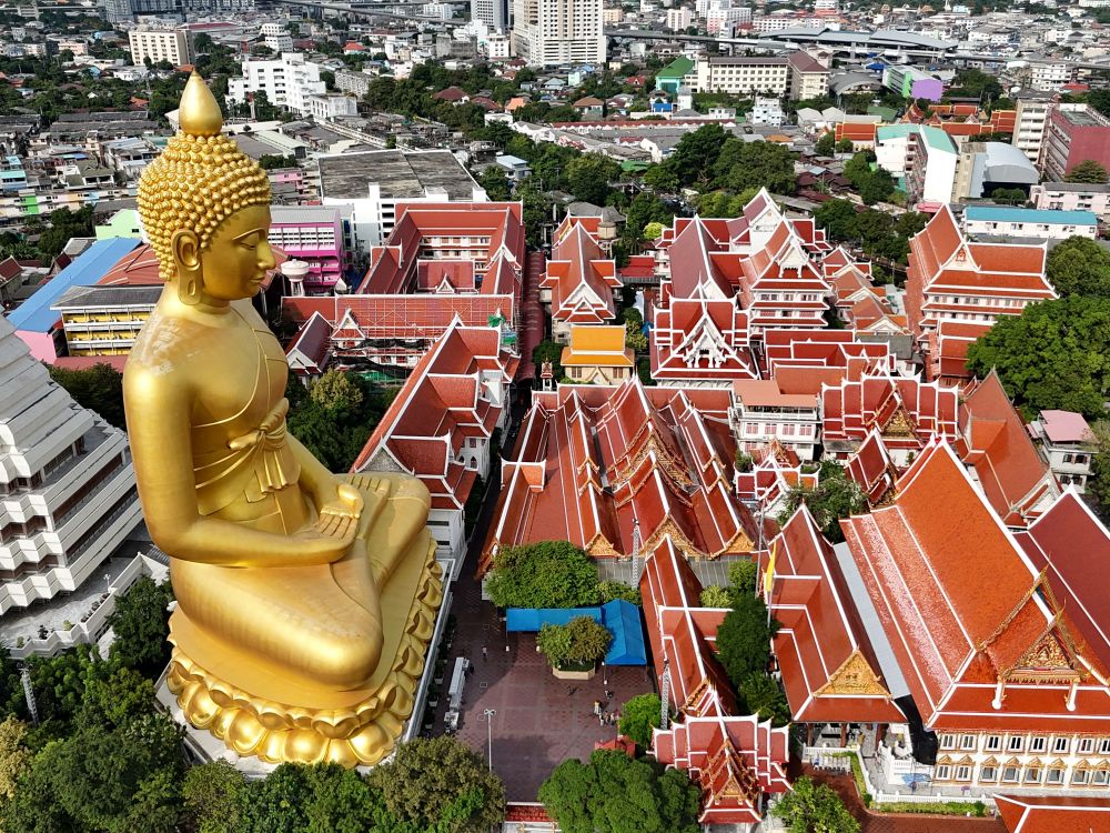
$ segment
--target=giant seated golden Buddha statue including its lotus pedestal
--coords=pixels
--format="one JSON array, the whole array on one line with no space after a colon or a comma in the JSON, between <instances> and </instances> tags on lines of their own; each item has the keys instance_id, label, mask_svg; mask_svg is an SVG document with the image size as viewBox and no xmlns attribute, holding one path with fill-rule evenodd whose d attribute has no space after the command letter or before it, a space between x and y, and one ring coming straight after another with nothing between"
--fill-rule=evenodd
<instances>
[{"instance_id":1,"label":"giant seated golden Buddha statue including its lotus pedestal","mask_svg":"<svg viewBox=\"0 0 1110 833\"><path fill-rule=\"evenodd\" d=\"M285 429L289 368L251 298L270 183L195 73L139 214L165 288L124 372L139 496L170 555L168 685L266 762L373 764L424 666L442 585L415 478L335 475Z\"/></svg>"}]
</instances>

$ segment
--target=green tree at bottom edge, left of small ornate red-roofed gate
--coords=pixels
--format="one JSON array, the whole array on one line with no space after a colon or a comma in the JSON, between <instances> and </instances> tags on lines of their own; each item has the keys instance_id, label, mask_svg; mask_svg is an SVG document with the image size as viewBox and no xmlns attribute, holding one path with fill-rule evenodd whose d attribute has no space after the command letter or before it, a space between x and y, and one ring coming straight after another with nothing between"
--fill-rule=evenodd
<instances>
[{"instance_id":1,"label":"green tree at bottom edge, left of small ornate red-roofed gate","mask_svg":"<svg viewBox=\"0 0 1110 833\"><path fill-rule=\"evenodd\" d=\"M564 761L539 801L564 833L697 833L700 791L682 770L597 750Z\"/></svg>"}]
</instances>

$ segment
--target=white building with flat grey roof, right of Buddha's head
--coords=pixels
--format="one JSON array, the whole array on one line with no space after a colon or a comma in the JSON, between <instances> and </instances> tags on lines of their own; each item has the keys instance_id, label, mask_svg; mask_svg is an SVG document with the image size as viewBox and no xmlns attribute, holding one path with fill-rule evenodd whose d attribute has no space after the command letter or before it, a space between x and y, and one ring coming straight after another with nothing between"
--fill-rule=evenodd
<instances>
[{"instance_id":1,"label":"white building with flat grey roof, right of Buddha's head","mask_svg":"<svg viewBox=\"0 0 1110 833\"><path fill-rule=\"evenodd\" d=\"M485 202L485 191L445 150L377 150L321 157L324 205L350 205L353 244L381 245L396 223L397 202ZM350 249L349 249L350 250Z\"/></svg>"}]
</instances>

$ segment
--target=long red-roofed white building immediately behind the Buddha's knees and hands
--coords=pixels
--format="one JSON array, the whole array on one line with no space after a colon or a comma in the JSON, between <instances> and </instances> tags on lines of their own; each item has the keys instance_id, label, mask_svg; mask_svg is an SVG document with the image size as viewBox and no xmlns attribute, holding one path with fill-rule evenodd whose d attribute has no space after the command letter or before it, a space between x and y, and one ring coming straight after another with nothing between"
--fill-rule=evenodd
<instances>
[{"instance_id":1,"label":"long red-roofed white building immediately behind the Buddha's knees and hands","mask_svg":"<svg viewBox=\"0 0 1110 833\"><path fill-rule=\"evenodd\" d=\"M452 323L405 380L354 463L355 471L413 474L427 486L427 525L448 580L466 554L464 510L490 475L518 362L501 345L496 328Z\"/></svg>"}]
</instances>

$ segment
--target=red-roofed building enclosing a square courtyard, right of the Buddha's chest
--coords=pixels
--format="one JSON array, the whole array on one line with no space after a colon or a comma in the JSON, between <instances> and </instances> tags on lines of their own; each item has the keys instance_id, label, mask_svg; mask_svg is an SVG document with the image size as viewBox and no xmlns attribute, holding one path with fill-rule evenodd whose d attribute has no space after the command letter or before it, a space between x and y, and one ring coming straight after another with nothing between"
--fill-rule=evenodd
<instances>
[{"instance_id":1,"label":"red-roofed building enclosing a square courtyard, right of the Buddha's chest","mask_svg":"<svg viewBox=\"0 0 1110 833\"><path fill-rule=\"evenodd\" d=\"M524 227L518 202L398 202L384 245L355 292L285 298L305 327L319 313L343 367L404 379L457 318L496 325L516 342L523 293Z\"/></svg>"}]
</instances>

